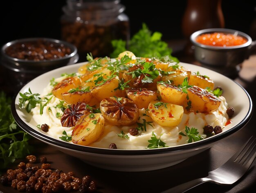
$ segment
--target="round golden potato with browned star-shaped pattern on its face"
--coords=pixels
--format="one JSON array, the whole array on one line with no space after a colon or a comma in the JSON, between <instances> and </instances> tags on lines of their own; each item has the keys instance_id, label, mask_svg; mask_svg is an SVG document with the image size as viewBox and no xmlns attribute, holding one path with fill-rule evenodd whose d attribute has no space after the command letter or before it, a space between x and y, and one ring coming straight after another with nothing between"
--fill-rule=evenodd
<instances>
[{"instance_id":1,"label":"round golden potato with browned star-shaped pattern on its face","mask_svg":"<svg viewBox=\"0 0 256 193\"><path fill-rule=\"evenodd\" d=\"M112 125L132 125L139 118L139 109L130 99L124 97L108 97L100 103L103 117Z\"/></svg>"}]
</instances>

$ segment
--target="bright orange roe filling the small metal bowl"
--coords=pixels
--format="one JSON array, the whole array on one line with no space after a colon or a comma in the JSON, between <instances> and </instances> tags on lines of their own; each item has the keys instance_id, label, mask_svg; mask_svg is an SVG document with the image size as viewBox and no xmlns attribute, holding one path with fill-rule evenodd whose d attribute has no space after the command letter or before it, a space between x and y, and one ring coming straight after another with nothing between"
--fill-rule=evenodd
<instances>
[{"instance_id":1,"label":"bright orange roe filling the small metal bowl","mask_svg":"<svg viewBox=\"0 0 256 193\"><path fill-rule=\"evenodd\" d=\"M234 34L224 34L224 33L212 33L212 34L202 34L196 38L196 42L211 45L211 46L235 46L241 45L247 42L247 39L242 36L235 36Z\"/></svg>"}]
</instances>

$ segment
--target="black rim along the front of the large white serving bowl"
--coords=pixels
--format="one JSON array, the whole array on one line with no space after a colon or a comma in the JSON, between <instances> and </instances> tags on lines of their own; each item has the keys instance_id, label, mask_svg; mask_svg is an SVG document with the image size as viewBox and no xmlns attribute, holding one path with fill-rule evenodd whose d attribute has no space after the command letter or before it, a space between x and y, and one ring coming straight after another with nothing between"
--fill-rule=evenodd
<instances>
[{"instance_id":1,"label":"black rim along the front of the large white serving bowl","mask_svg":"<svg viewBox=\"0 0 256 193\"><path fill-rule=\"evenodd\" d=\"M234 83L236 83L234 81ZM238 83L236 83L238 84ZM206 146L208 144L211 144L213 142L216 142L220 139L223 139L225 137L228 137L229 135L233 134L234 132L240 130L243 128L250 118L252 117L252 99L249 96L248 92L243 88L240 84L238 84L244 92L247 94L248 100L249 100L249 110L244 117L244 119L238 123L233 128L230 128L229 130L222 132L214 137L208 138L206 140L193 142L191 144L185 144L181 146L174 146L174 147L167 147L167 148L157 148L157 149L143 149L143 150L123 150L123 149L106 149L106 148L94 148L89 146L80 146L76 144L67 143L65 141L60 141L58 139L54 139L52 137L48 137L46 135L42 135L42 133L34 130L33 128L29 127L26 123L20 119L17 111L16 111L16 104L15 104L15 98L12 101L11 104L11 113L13 115L13 118L15 119L16 123L27 133L32 135L33 137L36 137L42 141L45 141L49 144L52 144L54 146L58 146L60 148L67 148L70 150L80 151L80 152L88 152L88 153L96 153L96 154L106 154L106 155L152 155L152 154L161 154L161 153L170 153L170 152L177 152L182 150L189 150L194 148L200 148L202 146ZM15 97L18 96L18 93L15 95Z\"/></svg>"}]
</instances>

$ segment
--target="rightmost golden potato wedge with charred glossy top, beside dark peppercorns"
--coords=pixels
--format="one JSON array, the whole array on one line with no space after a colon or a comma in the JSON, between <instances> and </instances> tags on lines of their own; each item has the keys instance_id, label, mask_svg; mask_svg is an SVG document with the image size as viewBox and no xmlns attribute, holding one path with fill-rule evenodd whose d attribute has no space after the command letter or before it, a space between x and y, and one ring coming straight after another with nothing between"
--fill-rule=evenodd
<instances>
[{"instance_id":1,"label":"rightmost golden potato wedge with charred glossy top, beside dark peppercorns","mask_svg":"<svg viewBox=\"0 0 256 193\"><path fill-rule=\"evenodd\" d=\"M188 100L191 101L191 110L195 112L210 113L220 106L221 101L217 96L198 86L187 89L187 92Z\"/></svg>"}]
</instances>

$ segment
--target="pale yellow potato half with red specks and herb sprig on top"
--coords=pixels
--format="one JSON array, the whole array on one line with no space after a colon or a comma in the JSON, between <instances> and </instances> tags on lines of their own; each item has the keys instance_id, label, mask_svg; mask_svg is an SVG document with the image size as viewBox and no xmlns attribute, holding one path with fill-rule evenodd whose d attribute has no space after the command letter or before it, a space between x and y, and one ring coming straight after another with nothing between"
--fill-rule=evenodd
<instances>
[{"instance_id":1,"label":"pale yellow potato half with red specks and herb sprig on top","mask_svg":"<svg viewBox=\"0 0 256 193\"><path fill-rule=\"evenodd\" d=\"M151 119L160 126L177 126L183 117L183 107L160 101L151 101L148 105L148 113Z\"/></svg>"}]
</instances>

